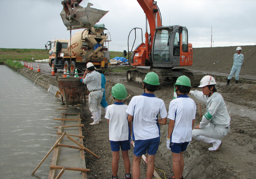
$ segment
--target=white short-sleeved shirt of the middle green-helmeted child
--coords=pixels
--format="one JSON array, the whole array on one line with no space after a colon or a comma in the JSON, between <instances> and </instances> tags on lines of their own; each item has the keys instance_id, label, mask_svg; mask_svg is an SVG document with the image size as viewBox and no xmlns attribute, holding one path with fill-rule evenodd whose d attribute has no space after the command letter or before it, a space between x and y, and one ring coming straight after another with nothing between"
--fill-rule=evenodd
<instances>
[{"instance_id":1,"label":"white short-sleeved shirt of the middle green-helmeted child","mask_svg":"<svg viewBox=\"0 0 256 179\"><path fill-rule=\"evenodd\" d=\"M166 118L166 107L162 99L154 94L143 93L134 96L126 112L133 118L133 139L147 140L160 136L160 128L157 123L158 113L160 118Z\"/></svg>"}]
</instances>

